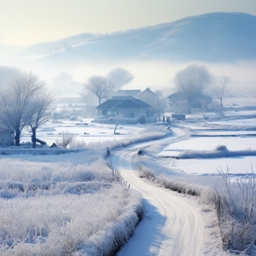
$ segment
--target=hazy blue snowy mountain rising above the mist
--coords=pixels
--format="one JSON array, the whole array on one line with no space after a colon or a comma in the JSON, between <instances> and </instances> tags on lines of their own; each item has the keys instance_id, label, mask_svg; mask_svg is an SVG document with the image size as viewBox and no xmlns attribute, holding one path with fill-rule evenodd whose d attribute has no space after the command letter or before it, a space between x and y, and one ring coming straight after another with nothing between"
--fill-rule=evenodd
<instances>
[{"instance_id":1,"label":"hazy blue snowy mountain rising above the mist","mask_svg":"<svg viewBox=\"0 0 256 256\"><path fill-rule=\"evenodd\" d=\"M83 33L32 45L21 55L41 61L237 61L256 59L256 16L211 13L109 34Z\"/></svg>"}]
</instances>

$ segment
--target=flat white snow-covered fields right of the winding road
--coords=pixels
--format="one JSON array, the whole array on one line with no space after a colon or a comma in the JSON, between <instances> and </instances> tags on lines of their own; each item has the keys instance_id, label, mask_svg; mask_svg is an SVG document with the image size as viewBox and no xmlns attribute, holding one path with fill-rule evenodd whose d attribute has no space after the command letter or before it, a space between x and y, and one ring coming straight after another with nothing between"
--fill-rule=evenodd
<instances>
[{"instance_id":1,"label":"flat white snow-covered fields right of the winding road","mask_svg":"<svg viewBox=\"0 0 256 256\"><path fill-rule=\"evenodd\" d=\"M164 160L165 165L177 172L190 174L213 174L218 173L220 167L226 170L230 168L232 175L245 175L252 172L252 166L256 170L256 156L236 156L223 158L207 158L207 151L214 151L219 145L224 145L230 151L250 151L256 149L256 131L250 131L256 127L256 119L237 119L230 121L208 122L217 124L218 129L208 129L204 126L186 124L190 129L190 137L186 140L172 143L163 148L159 156L177 157L187 151L205 152L203 159L170 159ZM224 126L222 126L224 125ZM230 125L230 128L227 128ZM240 125L247 127L239 130ZM236 129L234 126L238 127ZM249 130L249 131L247 131Z\"/></svg>"}]
</instances>

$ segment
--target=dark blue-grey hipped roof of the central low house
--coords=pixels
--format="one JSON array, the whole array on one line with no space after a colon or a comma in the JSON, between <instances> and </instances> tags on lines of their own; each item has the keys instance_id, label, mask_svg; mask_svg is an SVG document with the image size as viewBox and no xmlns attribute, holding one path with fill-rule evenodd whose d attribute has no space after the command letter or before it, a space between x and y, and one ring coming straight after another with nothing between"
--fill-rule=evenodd
<instances>
[{"instance_id":1,"label":"dark blue-grey hipped roof of the central low house","mask_svg":"<svg viewBox=\"0 0 256 256\"><path fill-rule=\"evenodd\" d=\"M138 100L132 96L113 96L110 100L103 102L96 108L151 108L148 103Z\"/></svg>"}]
</instances>

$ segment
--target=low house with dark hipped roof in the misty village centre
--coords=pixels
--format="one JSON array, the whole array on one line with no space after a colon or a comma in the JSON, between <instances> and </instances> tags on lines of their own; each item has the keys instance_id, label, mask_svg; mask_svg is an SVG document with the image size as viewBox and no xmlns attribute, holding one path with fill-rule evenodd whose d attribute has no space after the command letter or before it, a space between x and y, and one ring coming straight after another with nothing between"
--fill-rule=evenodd
<instances>
[{"instance_id":1,"label":"low house with dark hipped roof in the misty village centre","mask_svg":"<svg viewBox=\"0 0 256 256\"><path fill-rule=\"evenodd\" d=\"M98 116L123 115L125 118L137 118L144 115L150 117L151 106L133 96L113 96L110 100L100 104L97 109Z\"/></svg>"}]
</instances>

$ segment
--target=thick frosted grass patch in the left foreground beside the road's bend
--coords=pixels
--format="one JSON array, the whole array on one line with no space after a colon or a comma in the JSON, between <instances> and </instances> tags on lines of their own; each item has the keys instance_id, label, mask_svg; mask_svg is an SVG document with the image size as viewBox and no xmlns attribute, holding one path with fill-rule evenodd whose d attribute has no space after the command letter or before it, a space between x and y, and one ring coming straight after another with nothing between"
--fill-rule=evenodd
<instances>
[{"instance_id":1,"label":"thick frosted grass patch in the left foreground beside the road's bend","mask_svg":"<svg viewBox=\"0 0 256 256\"><path fill-rule=\"evenodd\" d=\"M119 224L120 237L127 240L137 224L137 212L143 211L137 209L140 201L137 192L120 184L94 194L0 199L1 255L93 255L91 250L104 252L94 255L108 254L114 241L100 247L108 240L104 232Z\"/></svg>"}]
</instances>

